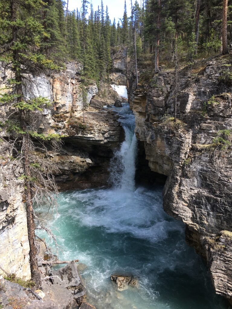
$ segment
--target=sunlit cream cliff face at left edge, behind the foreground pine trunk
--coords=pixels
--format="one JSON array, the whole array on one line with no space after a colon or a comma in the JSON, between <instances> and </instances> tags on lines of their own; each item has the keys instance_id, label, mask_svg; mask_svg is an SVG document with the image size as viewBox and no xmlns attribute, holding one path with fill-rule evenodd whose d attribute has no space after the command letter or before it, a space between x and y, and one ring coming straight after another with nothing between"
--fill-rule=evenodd
<instances>
[{"instance_id":1,"label":"sunlit cream cliff face at left edge, behind the foreground pine trunk","mask_svg":"<svg viewBox=\"0 0 232 309\"><path fill-rule=\"evenodd\" d=\"M26 211L22 184L17 180L20 170L14 160L5 159L1 154L0 173L0 266L28 280L31 273Z\"/></svg>"}]
</instances>

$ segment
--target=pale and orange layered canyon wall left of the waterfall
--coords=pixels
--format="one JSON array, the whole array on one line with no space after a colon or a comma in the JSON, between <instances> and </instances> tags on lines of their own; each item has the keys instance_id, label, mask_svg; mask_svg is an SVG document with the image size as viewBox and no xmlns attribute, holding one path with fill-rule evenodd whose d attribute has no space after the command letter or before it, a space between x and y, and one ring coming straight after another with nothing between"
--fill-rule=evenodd
<instances>
[{"instance_id":1,"label":"pale and orange layered canyon wall left of the waterfall","mask_svg":"<svg viewBox=\"0 0 232 309\"><path fill-rule=\"evenodd\" d=\"M55 180L60 190L108 186L110 160L124 138L116 113L102 110L104 102L94 99L98 92L95 83L88 86L83 123L81 69L79 63L68 62L66 70L25 76L24 80L25 97L43 96L53 102L52 108L44 109L40 133L67 136L61 150L50 154L59 168ZM10 70L0 72L0 88L11 75ZM1 110L0 120L6 113ZM10 158L7 145L5 149L0 158L0 266L8 273L29 279L26 211L23 184L18 180L23 171ZM0 274L4 273L0 270Z\"/></svg>"}]
</instances>

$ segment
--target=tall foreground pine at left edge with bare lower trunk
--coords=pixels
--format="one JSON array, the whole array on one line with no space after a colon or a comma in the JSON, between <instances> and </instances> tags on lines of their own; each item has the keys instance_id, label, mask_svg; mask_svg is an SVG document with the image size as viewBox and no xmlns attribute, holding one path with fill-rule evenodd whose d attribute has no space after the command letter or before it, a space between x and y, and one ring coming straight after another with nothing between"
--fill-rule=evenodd
<instances>
[{"instance_id":1,"label":"tall foreground pine at left edge with bare lower trunk","mask_svg":"<svg viewBox=\"0 0 232 309\"><path fill-rule=\"evenodd\" d=\"M15 156L19 156L22 162L24 180L24 196L27 212L28 240L30 246L30 268L32 280L36 287L40 286L41 278L37 264L37 248L35 245L35 223L33 198L41 194L43 185L51 185L46 180L48 174L44 167L38 163L35 155L32 138L38 141L47 141L51 135L38 134L38 126L41 125L43 108L49 108L51 102L42 97L24 96L24 78L41 72L45 68L57 68L51 60L40 53L41 41L49 37L45 33L38 16L39 10L43 10L45 3L41 0L27 0L26 5L22 0L1 1L0 9L2 19L0 23L0 55L3 66L11 68L12 78L8 80L10 92L1 93L0 105L14 110L14 117L9 116L1 123L3 130L9 132L10 141L18 145ZM45 159L44 159L45 161ZM45 178L43 178L45 177ZM45 188L46 189L46 188Z\"/></svg>"}]
</instances>

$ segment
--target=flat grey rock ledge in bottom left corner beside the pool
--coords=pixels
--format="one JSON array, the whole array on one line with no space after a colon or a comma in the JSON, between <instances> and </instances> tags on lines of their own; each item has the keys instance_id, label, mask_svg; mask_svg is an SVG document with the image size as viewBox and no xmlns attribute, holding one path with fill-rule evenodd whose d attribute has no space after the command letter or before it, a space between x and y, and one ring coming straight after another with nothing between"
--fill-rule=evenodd
<instances>
[{"instance_id":1,"label":"flat grey rock ledge in bottom left corner beside the pool","mask_svg":"<svg viewBox=\"0 0 232 309\"><path fill-rule=\"evenodd\" d=\"M52 274L54 284L45 280L35 292L0 277L0 304L6 309L71 309L83 302L85 289L74 262Z\"/></svg>"}]
</instances>

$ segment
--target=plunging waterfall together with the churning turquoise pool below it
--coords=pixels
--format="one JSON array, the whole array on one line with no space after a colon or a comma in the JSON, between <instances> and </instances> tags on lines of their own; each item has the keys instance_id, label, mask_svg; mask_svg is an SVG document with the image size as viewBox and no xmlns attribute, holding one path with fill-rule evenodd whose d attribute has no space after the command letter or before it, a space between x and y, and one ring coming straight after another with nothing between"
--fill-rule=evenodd
<instances>
[{"instance_id":1,"label":"plunging waterfall together with the churning turquoise pool below it","mask_svg":"<svg viewBox=\"0 0 232 309\"><path fill-rule=\"evenodd\" d=\"M110 189L60 193L60 259L78 258L88 302L97 309L224 309L201 258L187 246L184 226L162 209L162 188L135 187L134 116L118 109L125 131L111 162ZM85 266L86 265L86 266ZM133 274L139 286L118 291L112 273Z\"/></svg>"}]
</instances>

